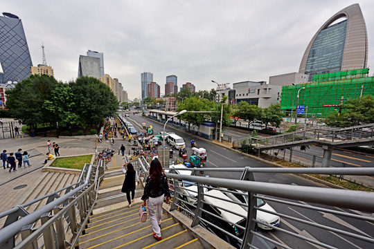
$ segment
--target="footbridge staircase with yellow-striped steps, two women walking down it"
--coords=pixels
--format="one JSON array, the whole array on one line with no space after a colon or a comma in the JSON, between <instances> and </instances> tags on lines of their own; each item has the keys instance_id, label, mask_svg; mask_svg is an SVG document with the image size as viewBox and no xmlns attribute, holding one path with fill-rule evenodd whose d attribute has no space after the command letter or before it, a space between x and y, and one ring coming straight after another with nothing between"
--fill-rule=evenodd
<instances>
[{"instance_id":1,"label":"footbridge staircase with yellow-striped steps, two women walking down it","mask_svg":"<svg viewBox=\"0 0 374 249\"><path fill-rule=\"evenodd\" d=\"M166 211L166 204L161 221L162 240L154 239L149 219L144 223L139 219L143 185L136 187L134 203L128 208L121 192L124 178L118 168L105 173L88 228L79 238L79 248L206 248L195 232Z\"/></svg>"}]
</instances>

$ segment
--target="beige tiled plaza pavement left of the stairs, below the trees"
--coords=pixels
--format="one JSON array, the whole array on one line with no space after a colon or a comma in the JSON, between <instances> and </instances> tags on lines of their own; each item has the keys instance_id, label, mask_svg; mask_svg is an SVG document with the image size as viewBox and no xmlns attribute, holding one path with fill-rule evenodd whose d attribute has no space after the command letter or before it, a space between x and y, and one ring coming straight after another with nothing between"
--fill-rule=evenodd
<instances>
[{"instance_id":1,"label":"beige tiled plaza pavement left of the stairs, below the trees","mask_svg":"<svg viewBox=\"0 0 374 249\"><path fill-rule=\"evenodd\" d=\"M43 179L46 177L46 174L48 174L48 172L42 172L44 159L46 158L46 153L48 152L48 147L46 146L46 142L48 139L60 145L60 156L94 154L96 151L95 138L55 138L41 136L30 138L26 136L24 138L1 139L1 152L3 151L3 149L6 149L7 153L15 152L17 151L17 149L28 151L28 154L30 154L30 164L32 166L26 168L19 168L17 166L17 172L9 172L8 169L3 169L1 165L0 212L9 210L15 205L22 204L25 196L28 196L30 193L35 191L35 188L38 186L38 184L43 181ZM121 143L120 145L118 145L118 143L120 143L120 141L116 142L116 145L113 145L113 149L115 149L116 152L118 151L118 148L116 147L121 146ZM109 141L103 141L103 143L98 145L98 149L103 149L103 147L110 148L112 147L112 145ZM116 155L114 156L114 158L121 157ZM0 162L3 163L2 161ZM113 162L116 162L116 159L114 159ZM121 167L122 162L123 161L121 159L118 160L119 167ZM17 189L16 187L20 185L26 185L26 187Z\"/></svg>"}]
</instances>

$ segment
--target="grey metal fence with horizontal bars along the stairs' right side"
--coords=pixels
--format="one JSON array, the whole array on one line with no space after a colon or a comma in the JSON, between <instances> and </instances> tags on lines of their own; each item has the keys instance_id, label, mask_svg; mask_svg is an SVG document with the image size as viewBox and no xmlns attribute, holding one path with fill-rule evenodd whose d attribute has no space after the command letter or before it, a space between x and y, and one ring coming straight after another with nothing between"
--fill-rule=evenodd
<instances>
[{"instance_id":1,"label":"grey metal fence with horizontal bars along the stairs' right side","mask_svg":"<svg viewBox=\"0 0 374 249\"><path fill-rule=\"evenodd\" d=\"M183 169L178 169L183 170ZM199 169L185 169L193 170L193 174L197 174ZM342 230L335 228L334 225L326 225L325 223L312 222L305 217L301 219L299 215L290 216L284 212L285 210L294 207L298 209L299 213L303 210L312 210L312 212L323 212L323 214L330 214L337 217L346 217L350 222L365 225L366 222L373 225L373 217L364 214L363 212L374 212L374 193L373 192L360 192L353 190L338 190L328 187L307 187L296 185L285 185L276 183L262 183L253 181L253 173L279 173L279 174L346 174L346 175L370 175L373 176L374 169L326 169L326 168L310 168L310 169L289 169L289 168L221 168L221 169L207 169L204 172L220 171L222 174L226 172L242 172L242 178L238 180L231 180L226 178L205 178L201 176L186 176L183 174L167 174L172 183L172 191L174 193L170 210L179 210L186 216L192 219L191 225L202 225L215 232L220 238L226 238L231 244L237 245L238 248L259 248L258 243L266 243L260 248L269 248L269 244L274 244L280 248L291 248L285 243L269 239L259 232L256 227L258 224L271 226L256 215L258 211L267 212L269 214L278 215L281 217L279 226L272 227L277 232L287 234L293 237L294 244L301 244L297 241L307 241L317 245L317 248L339 248L339 242L352 241L351 243L359 243L361 248L372 248L374 244L374 234L360 234L352 230ZM188 183L188 187L186 186ZM191 190L191 185L195 185L195 191ZM246 208L247 215L242 216L244 221L234 223L232 219L225 219L223 213L231 213L231 216L239 216L237 209L222 208L225 204L217 205L206 201L206 196L215 197L209 194L210 190L219 190L220 192L237 193L238 190L242 192L248 199L247 203L242 201L229 201L216 197L215 203L223 202L226 205L234 203L236 206ZM265 196L262 196L265 195ZM264 210L257 206L257 199L278 203L283 208L278 208L278 211L272 212ZM314 205L312 204L314 203ZM349 209L349 210L344 210ZM215 212L213 212L215 210ZM217 223L212 222L213 217ZM226 217L229 215L226 215ZM290 232L287 228L283 228L283 221L287 223L301 223L305 227L313 227L317 230L317 234L321 237L310 237L307 232L297 233ZM224 228L224 224L231 224L233 230L229 230L230 226ZM359 228L357 228L358 230ZM338 234L337 237L341 238L338 241L326 239L326 232ZM257 238L257 239L255 239ZM258 238L262 242L258 242ZM236 241L236 243L235 243ZM265 241L265 242L264 242ZM338 244L337 244L338 243ZM362 247L364 245L364 247ZM299 247L299 246L298 246Z\"/></svg>"}]
</instances>

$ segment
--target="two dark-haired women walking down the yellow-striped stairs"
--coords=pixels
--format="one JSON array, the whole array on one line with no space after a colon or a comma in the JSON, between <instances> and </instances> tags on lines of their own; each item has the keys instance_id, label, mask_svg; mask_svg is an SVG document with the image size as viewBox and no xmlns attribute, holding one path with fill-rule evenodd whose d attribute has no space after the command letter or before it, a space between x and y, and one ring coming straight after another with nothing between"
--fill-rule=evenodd
<instances>
[{"instance_id":1,"label":"two dark-haired women walking down the yellow-striped stairs","mask_svg":"<svg viewBox=\"0 0 374 249\"><path fill-rule=\"evenodd\" d=\"M134 202L136 183L139 184L139 176L136 170L134 170L132 163L126 163L123 165L122 171L125 174L125 181L123 181L121 191L126 193L126 198L129 203L128 207L131 208L132 203ZM150 172L145 181L144 192L141 200L143 200L143 207L147 205L148 200L148 212L150 214L153 237L154 239L157 239L157 241L162 239L161 217L164 197L166 198L166 202L168 202L170 199L168 181L165 172L163 172L161 163L157 158L154 158L150 163Z\"/></svg>"}]
</instances>

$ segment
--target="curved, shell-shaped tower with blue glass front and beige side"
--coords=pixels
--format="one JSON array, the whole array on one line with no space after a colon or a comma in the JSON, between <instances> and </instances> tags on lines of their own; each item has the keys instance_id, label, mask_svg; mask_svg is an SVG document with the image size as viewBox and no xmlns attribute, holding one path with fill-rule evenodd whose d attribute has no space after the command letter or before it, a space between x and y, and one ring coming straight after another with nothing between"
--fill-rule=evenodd
<instances>
[{"instance_id":1,"label":"curved, shell-shaped tower with blue glass front and beige side","mask_svg":"<svg viewBox=\"0 0 374 249\"><path fill-rule=\"evenodd\" d=\"M359 4L340 10L326 21L305 50L299 73L313 75L366 68L368 36Z\"/></svg>"}]
</instances>

